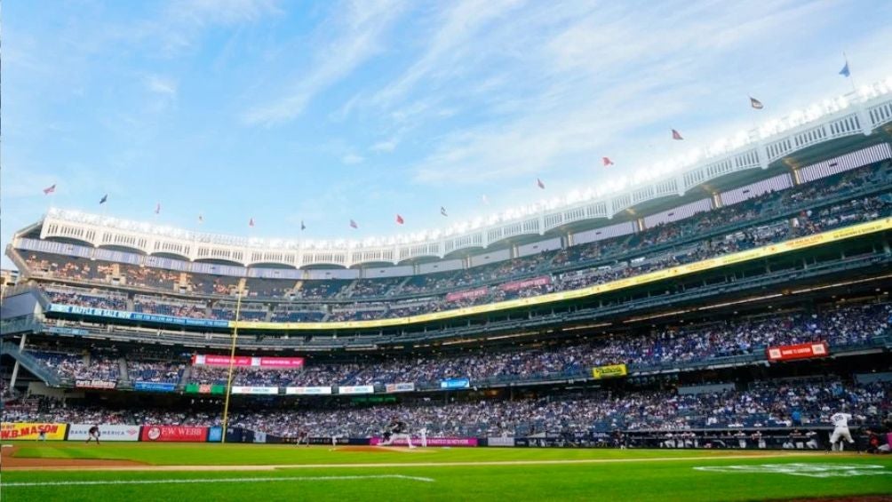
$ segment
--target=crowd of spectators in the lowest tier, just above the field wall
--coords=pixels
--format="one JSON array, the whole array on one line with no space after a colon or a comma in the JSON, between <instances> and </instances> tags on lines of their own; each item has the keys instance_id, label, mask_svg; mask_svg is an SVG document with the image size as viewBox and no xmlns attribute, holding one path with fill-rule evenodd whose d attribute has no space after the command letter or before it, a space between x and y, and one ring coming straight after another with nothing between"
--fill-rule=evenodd
<instances>
[{"instance_id":1,"label":"crowd of spectators in the lowest tier, just above the field wall","mask_svg":"<svg viewBox=\"0 0 892 502\"><path fill-rule=\"evenodd\" d=\"M674 390L585 391L524 399L407 399L363 406L349 401L297 407L235 408L229 425L280 437L373 437L392 417L429 436L502 436L596 431L688 431L830 425L840 409L853 425L892 413L892 383L847 383L836 377L758 382L748 388L681 394ZM219 425L219 409L54 407L13 412L10 420L103 424Z\"/></svg>"}]
</instances>

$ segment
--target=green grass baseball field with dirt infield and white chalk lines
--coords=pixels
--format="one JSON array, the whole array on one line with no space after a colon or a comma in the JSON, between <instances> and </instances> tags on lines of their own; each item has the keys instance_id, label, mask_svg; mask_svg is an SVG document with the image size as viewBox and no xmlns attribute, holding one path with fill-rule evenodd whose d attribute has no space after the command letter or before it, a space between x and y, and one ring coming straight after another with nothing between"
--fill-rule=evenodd
<instances>
[{"instance_id":1,"label":"green grass baseball field with dirt infield and white chalk lines","mask_svg":"<svg viewBox=\"0 0 892 502\"><path fill-rule=\"evenodd\" d=\"M892 499L892 457L849 453L24 441L0 450L4 502Z\"/></svg>"}]
</instances>

